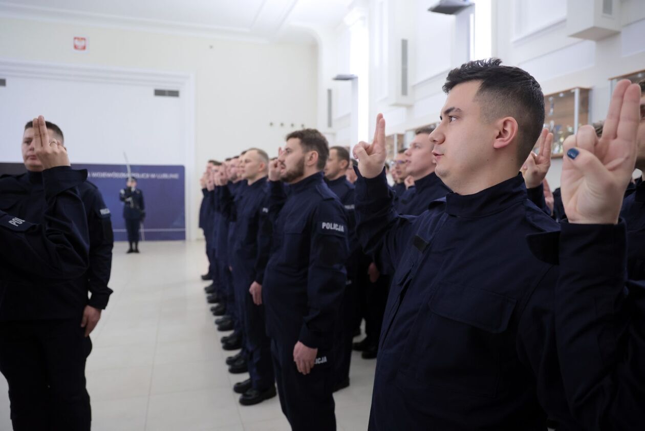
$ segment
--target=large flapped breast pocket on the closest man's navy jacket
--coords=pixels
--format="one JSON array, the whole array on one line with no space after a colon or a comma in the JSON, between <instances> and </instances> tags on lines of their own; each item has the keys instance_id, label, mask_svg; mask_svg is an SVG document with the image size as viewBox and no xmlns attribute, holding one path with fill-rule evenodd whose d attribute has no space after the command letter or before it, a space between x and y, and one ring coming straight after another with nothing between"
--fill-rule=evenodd
<instances>
[{"instance_id":1,"label":"large flapped breast pocket on the closest man's navy jacket","mask_svg":"<svg viewBox=\"0 0 645 431\"><path fill-rule=\"evenodd\" d=\"M516 300L439 282L410 337L408 377L453 392L494 397L504 363L514 357L509 324Z\"/></svg>"}]
</instances>

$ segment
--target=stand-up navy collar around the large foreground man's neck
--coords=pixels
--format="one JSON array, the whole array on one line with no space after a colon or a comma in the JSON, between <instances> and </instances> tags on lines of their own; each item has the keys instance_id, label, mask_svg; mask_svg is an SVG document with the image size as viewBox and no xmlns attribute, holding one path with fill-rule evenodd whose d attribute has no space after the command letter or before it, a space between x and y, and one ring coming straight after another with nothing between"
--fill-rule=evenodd
<instances>
[{"instance_id":1,"label":"stand-up navy collar around the large foreground man's neck","mask_svg":"<svg viewBox=\"0 0 645 431\"><path fill-rule=\"evenodd\" d=\"M511 205L527 199L526 185L522 174L493 185L479 193L462 196L446 195L446 213L457 217L485 217L499 213Z\"/></svg>"}]
</instances>

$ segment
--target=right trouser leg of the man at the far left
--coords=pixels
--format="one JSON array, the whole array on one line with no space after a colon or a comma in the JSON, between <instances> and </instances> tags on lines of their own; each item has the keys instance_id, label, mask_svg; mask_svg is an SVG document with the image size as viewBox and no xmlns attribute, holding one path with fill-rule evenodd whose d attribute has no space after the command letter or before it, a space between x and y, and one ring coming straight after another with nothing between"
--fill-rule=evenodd
<instances>
[{"instance_id":1,"label":"right trouser leg of the man at the far left","mask_svg":"<svg viewBox=\"0 0 645 431\"><path fill-rule=\"evenodd\" d=\"M78 319L41 325L50 385L54 430L89 431L90 395L85 388L85 363L92 341Z\"/></svg>"}]
</instances>

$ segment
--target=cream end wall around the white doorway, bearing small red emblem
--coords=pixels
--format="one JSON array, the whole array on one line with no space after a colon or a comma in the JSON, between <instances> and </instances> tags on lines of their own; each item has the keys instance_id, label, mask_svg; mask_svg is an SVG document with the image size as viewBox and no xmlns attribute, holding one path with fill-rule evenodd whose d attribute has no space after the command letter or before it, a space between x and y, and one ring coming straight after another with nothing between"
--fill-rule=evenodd
<instances>
[{"instance_id":1,"label":"cream end wall around the white doorway, bearing small red emblem","mask_svg":"<svg viewBox=\"0 0 645 431\"><path fill-rule=\"evenodd\" d=\"M88 37L88 52L72 49L74 36ZM6 18L0 19L0 40L0 59L157 70L194 77L194 140L177 142L193 147L195 154L194 160L186 160L191 237L199 235L195 228L201 196L197 178L206 160L224 158L250 146L275 154L288 132L302 124L317 125L315 45L215 40ZM43 106L34 103L34 114L45 109ZM0 109L11 109L1 93ZM96 114L100 117L101 112ZM270 122L274 123L272 127ZM142 129L146 127L163 129L163 118L154 125L141 125ZM65 128L71 136L76 134L71 125ZM103 132L100 127L95 130ZM75 140L88 142L89 138L81 134L78 132ZM137 140L134 145L141 151L132 149L137 157L131 157L130 162L150 163L154 142ZM13 160L15 154L0 154L0 159L8 157Z\"/></svg>"}]
</instances>

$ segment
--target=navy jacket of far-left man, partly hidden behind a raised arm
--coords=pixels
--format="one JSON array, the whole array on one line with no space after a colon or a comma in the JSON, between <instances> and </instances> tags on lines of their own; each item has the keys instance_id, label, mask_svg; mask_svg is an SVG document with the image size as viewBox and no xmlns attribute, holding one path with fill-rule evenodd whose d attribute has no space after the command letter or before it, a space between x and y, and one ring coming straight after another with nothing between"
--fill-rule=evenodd
<instances>
[{"instance_id":1,"label":"navy jacket of far-left man, partly hidden behind a raised arm","mask_svg":"<svg viewBox=\"0 0 645 431\"><path fill-rule=\"evenodd\" d=\"M14 310L6 310L6 319L63 319L80 317L90 305L104 309L112 289L108 288L112 268L114 237L110 210L101 193L90 182L78 185L90 232L90 266L77 279L59 285L49 280L26 289L29 300L20 302ZM42 223L46 211L43 174L27 172L5 176L0 180L0 209L30 222ZM88 299L88 292L92 295Z\"/></svg>"}]
</instances>

